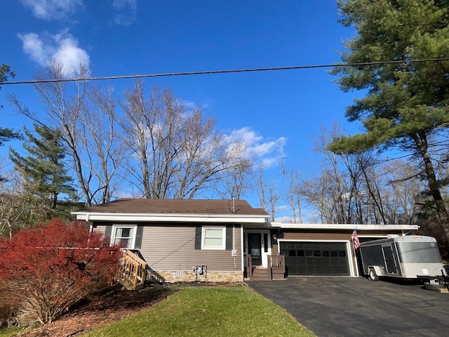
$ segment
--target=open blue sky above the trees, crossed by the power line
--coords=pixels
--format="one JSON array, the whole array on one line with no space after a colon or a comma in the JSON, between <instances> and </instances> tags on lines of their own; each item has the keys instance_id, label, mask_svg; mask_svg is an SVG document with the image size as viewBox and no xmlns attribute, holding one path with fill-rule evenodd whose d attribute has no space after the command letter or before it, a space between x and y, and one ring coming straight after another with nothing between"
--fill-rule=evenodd
<instances>
[{"instance_id":1,"label":"open blue sky above the trees, crossed by the power line","mask_svg":"<svg viewBox=\"0 0 449 337\"><path fill-rule=\"evenodd\" d=\"M16 81L33 79L51 58L88 62L94 77L333 64L354 34L337 22L335 0L4 0L0 18L0 63L11 65ZM344 119L356 93L342 93L333 80L319 68L145 82L203 107L222 131L244 135L260 159L288 158L286 167L307 178L319 165L311 139L322 126L337 120L357 131ZM131 83L104 81L116 91ZM31 85L3 86L1 126L31 125L13 112L7 93L39 110ZM279 166L271 170L276 176Z\"/></svg>"}]
</instances>

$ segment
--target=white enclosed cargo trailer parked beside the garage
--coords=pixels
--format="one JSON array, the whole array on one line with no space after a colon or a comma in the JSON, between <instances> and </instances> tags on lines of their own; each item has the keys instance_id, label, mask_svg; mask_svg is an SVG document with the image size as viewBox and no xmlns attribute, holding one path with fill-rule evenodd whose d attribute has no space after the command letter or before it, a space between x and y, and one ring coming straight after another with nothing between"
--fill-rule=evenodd
<instances>
[{"instance_id":1,"label":"white enclosed cargo trailer parked beside the garage","mask_svg":"<svg viewBox=\"0 0 449 337\"><path fill-rule=\"evenodd\" d=\"M443 262L434 237L403 235L360 244L363 272L379 277L432 279L441 277Z\"/></svg>"}]
</instances>

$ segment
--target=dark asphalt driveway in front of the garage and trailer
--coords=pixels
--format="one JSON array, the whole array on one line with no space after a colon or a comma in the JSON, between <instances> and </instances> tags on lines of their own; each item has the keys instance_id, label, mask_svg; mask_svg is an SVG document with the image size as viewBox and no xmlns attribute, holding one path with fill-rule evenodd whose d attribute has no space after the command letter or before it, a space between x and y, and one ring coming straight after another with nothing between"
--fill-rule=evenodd
<instances>
[{"instance_id":1,"label":"dark asphalt driveway in front of the garage and trailer","mask_svg":"<svg viewBox=\"0 0 449 337\"><path fill-rule=\"evenodd\" d=\"M362 277L247 282L319 337L449 336L449 293Z\"/></svg>"}]
</instances>

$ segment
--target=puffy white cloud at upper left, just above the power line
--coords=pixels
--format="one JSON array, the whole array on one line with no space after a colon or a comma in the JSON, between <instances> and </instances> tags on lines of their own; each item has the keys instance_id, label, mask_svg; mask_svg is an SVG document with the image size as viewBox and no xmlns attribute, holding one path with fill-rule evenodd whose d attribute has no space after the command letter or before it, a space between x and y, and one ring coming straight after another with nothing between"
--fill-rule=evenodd
<instances>
[{"instance_id":1,"label":"puffy white cloud at upper left, just above the power line","mask_svg":"<svg viewBox=\"0 0 449 337\"><path fill-rule=\"evenodd\" d=\"M78 41L67 32L53 35L43 41L36 33L18 34L22 40L23 51L32 60L41 66L55 60L63 65L63 72L67 75L73 74L83 63L88 67L90 59L88 53L78 46Z\"/></svg>"}]
</instances>

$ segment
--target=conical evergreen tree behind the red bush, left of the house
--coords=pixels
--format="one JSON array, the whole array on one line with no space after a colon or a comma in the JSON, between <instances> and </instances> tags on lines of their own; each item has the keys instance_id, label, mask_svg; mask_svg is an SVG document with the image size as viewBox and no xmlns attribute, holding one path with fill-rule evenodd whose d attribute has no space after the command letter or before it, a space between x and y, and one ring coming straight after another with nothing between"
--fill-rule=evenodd
<instances>
[{"instance_id":1,"label":"conical evergreen tree behind the red bush, left of the house","mask_svg":"<svg viewBox=\"0 0 449 337\"><path fill-rule=\"evenodd\" d=\"M74 188L64 166L65 147L60 140L60 131L37 124L34 124L34 130L39 138L24 128L28 139L23 147L29 155L22 157L10 149L10 158L28 182L27 189L41 199L51 216L58 205L59 194L72 194Z\"/></svg>"}]
</instances>

